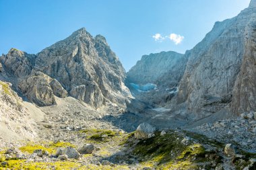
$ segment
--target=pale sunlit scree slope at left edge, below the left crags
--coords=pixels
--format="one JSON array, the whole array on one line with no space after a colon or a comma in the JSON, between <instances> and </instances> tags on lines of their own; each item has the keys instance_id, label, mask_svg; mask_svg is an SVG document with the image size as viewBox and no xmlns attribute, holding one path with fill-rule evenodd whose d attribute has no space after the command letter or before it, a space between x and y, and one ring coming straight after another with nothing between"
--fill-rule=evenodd
<instances>
[{"instance_id":1,"label":"pale sunlit scree slope at left edge, below the left crags","mask_svg":"<svg viewBox=\"0 0 256 170\"><path fill-rule=\"evenodd\" d=\"M37 136L36 121L43 113L29 105L11 89L11 84L0 81L0 142L7 144ZM36 116L37 118L33 118Z\"/></svg>"}]
</instances>

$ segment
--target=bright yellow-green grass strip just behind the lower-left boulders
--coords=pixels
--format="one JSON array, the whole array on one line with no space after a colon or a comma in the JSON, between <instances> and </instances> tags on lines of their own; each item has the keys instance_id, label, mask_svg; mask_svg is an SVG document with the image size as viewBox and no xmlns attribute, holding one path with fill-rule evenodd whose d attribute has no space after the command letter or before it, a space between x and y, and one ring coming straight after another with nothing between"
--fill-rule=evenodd
<instances>
[{"instance_id":1,"label":"bright yellow-green grass strip just behind the lower-left boulders","mask_svg":"<svg viewBox=\"0 0 256 170\"><path fill-rule=\"evenodd\" d=\"M75 145L69 143L69 142L44 142L44 144L33 144L28 143L26 146L20 147L20 151L23 153L33 153L37 149L42 149L42 151L47 151L50 154L55 154L57 148L61 147L75 147Z\"/></svg>"}]
</instances>

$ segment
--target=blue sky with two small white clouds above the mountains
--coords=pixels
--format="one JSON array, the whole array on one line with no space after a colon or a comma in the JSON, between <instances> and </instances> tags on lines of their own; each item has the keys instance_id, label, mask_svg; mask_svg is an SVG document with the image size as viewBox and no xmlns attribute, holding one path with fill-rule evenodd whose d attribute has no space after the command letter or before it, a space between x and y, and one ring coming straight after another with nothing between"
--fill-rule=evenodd
<instances>
[{"instance_id":1,"label":"blue sky with two small white clouds above the mountains","mask_svg":"<svg viewBox=\"0 0 256 170\"><path fill-rule=\"evenodd\" d=\"M143 54L185 53L249 1L0 0L0 53L37 53L85 27L106 37L128 71Z\"/></svg>"}]
</instances>

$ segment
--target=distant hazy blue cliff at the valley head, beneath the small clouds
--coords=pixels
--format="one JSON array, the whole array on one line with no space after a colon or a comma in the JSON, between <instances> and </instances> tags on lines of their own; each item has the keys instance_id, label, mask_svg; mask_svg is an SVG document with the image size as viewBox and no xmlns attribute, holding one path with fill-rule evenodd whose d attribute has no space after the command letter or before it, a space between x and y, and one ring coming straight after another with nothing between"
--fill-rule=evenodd
<instances>
[{"instance_id":1,"label":"distant hazy blue cliff at the valley head, beneath the small clouds","mask_svg":"<svg viewBox=\"0 0 256 170\"><path fill-rule=\"evenodd\" d=\"M175 86L185 71L187 58L177 52L160 52L142 56L127 73L127 81Z\"/></svg>"}]
</instances>

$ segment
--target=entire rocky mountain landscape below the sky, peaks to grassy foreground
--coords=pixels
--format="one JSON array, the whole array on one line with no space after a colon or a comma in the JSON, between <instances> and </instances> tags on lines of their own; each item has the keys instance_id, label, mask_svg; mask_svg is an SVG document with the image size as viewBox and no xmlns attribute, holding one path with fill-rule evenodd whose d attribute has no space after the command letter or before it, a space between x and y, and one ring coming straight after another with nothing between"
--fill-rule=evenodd
<instances>
[{"instance_id":1,"label":"entire rocky mountain landscape below the sky, peaks to grassy foreground","mask_svg":"<svg viewBox=\"0 0 256 170\"><path fill-rule=\"evenodd\" d=\"M256 169L256 0L127 73L81 28L0 56L0 169Z\"/></svg>"}]
</instances>

